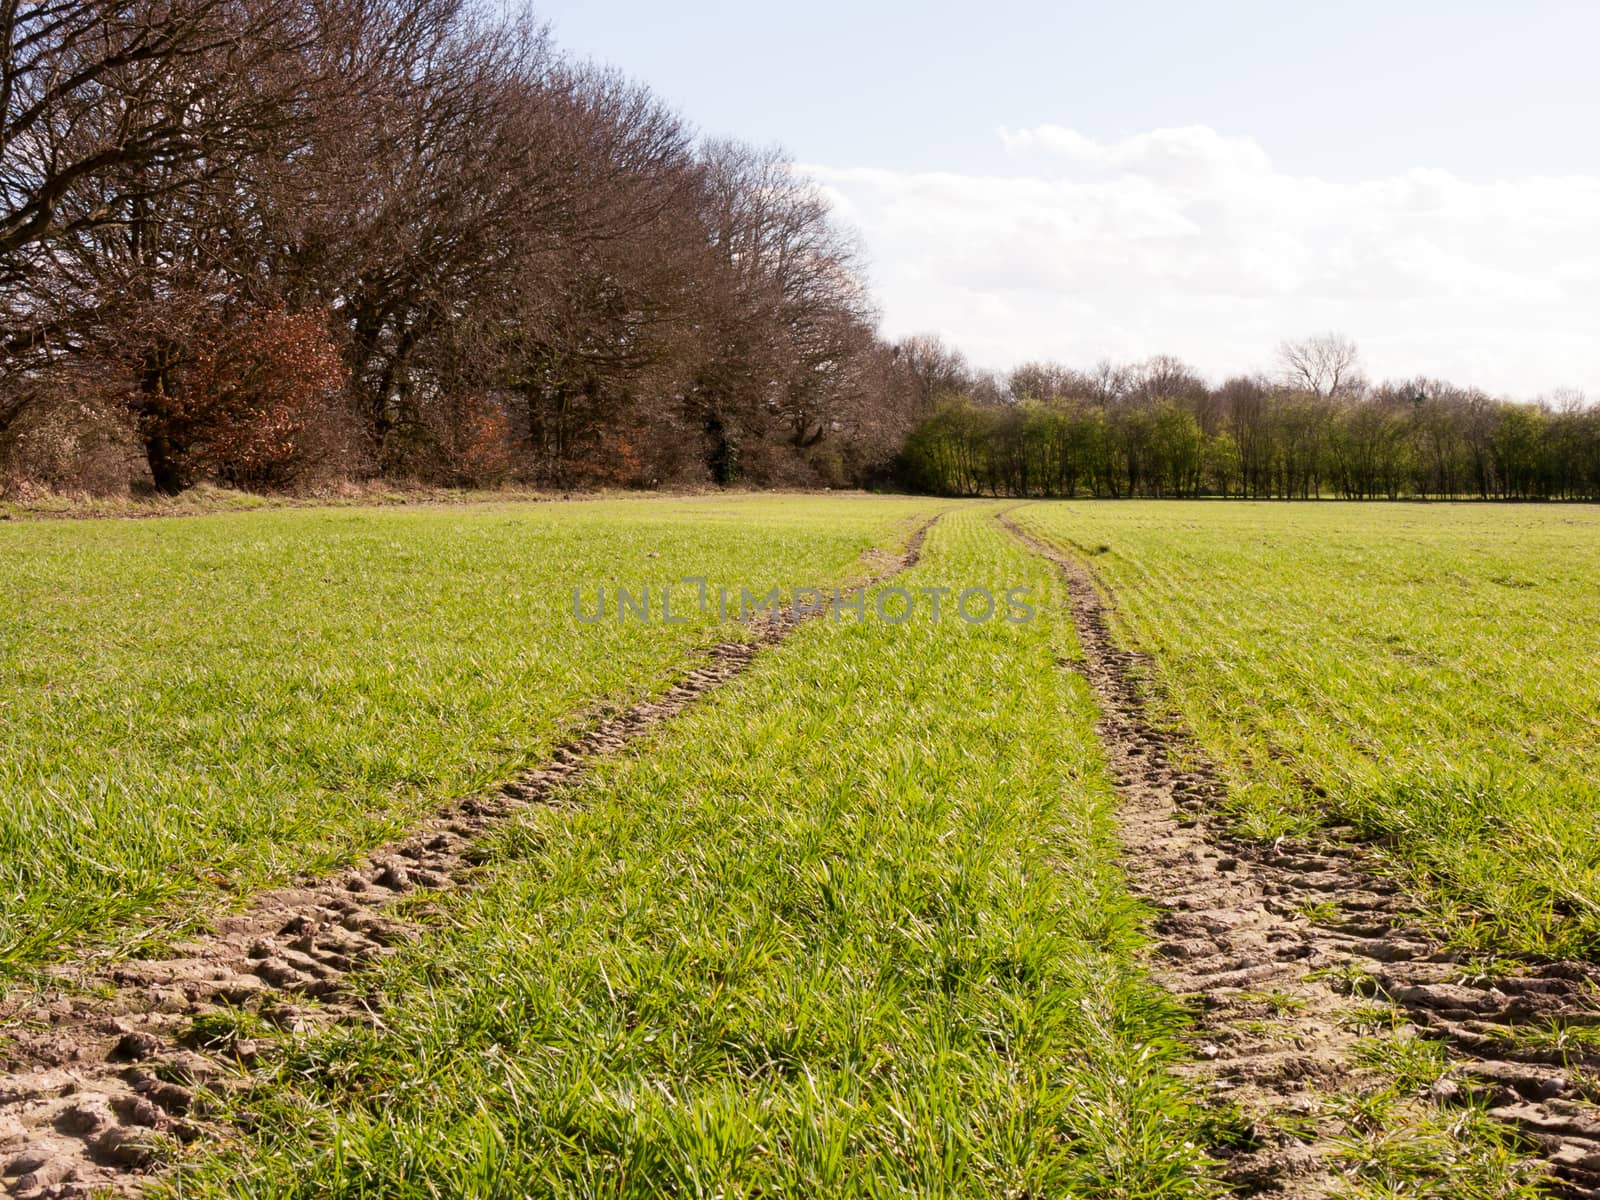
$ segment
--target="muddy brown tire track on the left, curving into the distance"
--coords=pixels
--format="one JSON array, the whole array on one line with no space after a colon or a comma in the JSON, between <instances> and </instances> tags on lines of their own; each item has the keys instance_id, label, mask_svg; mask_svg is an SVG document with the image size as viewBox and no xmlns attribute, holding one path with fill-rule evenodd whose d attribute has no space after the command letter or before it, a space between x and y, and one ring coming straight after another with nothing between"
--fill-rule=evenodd
<instances>
[{"instance_id":1,"label":"muddy brown tire track on the left, curving into the distance","mask_svg":"<svg viewBox=\"0 0 1600 1200\"><path fill-rule=\"evenodd\" d=\"M845 587L914 566L936 520L899 554L869 552L866 576ZM261 893L170 957L51 968L38 994L0 1000L0 1190L18 1200L126 1194L179 1144L226 1136L210 1098L248 1083L274 1030L378 1019L381 997L362 992L357 973L419 936L413 906L475 885L474 846L486 832L558 803L598 758L744 674L798 624L792 606L763 614L750 640L712 646L704 666L542 766L456 802L349 870Z\"/></svg>"}]
</instances>

